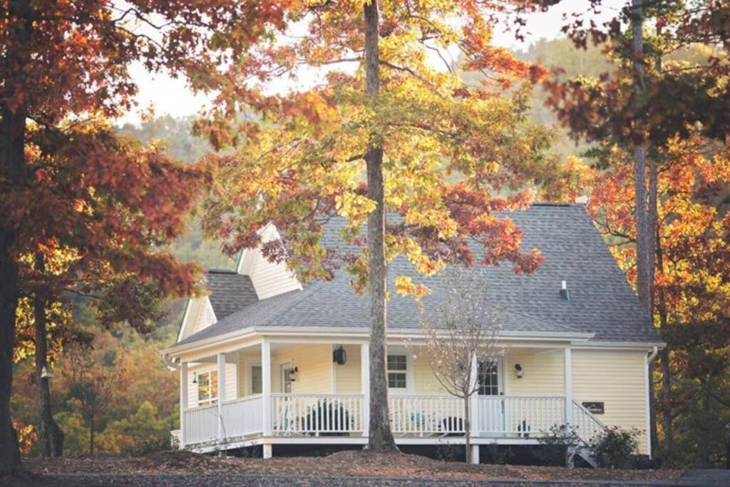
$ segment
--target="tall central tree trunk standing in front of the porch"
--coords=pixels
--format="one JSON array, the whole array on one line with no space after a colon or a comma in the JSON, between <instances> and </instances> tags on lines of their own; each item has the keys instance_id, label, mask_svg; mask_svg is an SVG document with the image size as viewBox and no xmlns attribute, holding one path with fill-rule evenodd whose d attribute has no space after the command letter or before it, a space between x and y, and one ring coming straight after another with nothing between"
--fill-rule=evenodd
<instances>
[{"instance_id":1,"label":"tall central tree trunk standing in front of the porch","mask_svg":"<svg viewBox=\"0 0 730 487\"><path fill-rule=\"evenodd\" d=\"M364 6L365 83L369 103L377 103L380 91L380 54L378 49L377 0ZM368 215L367 248L370 276L370 426L368 449L394 451L388 415L388 377L385 369L385 329L387 326L385 291L388 271L385 266L385 197L383 195L383 145L380 134L373 134L365 154L367 195L375 204Z\"/></svg>"}]
</instances>

